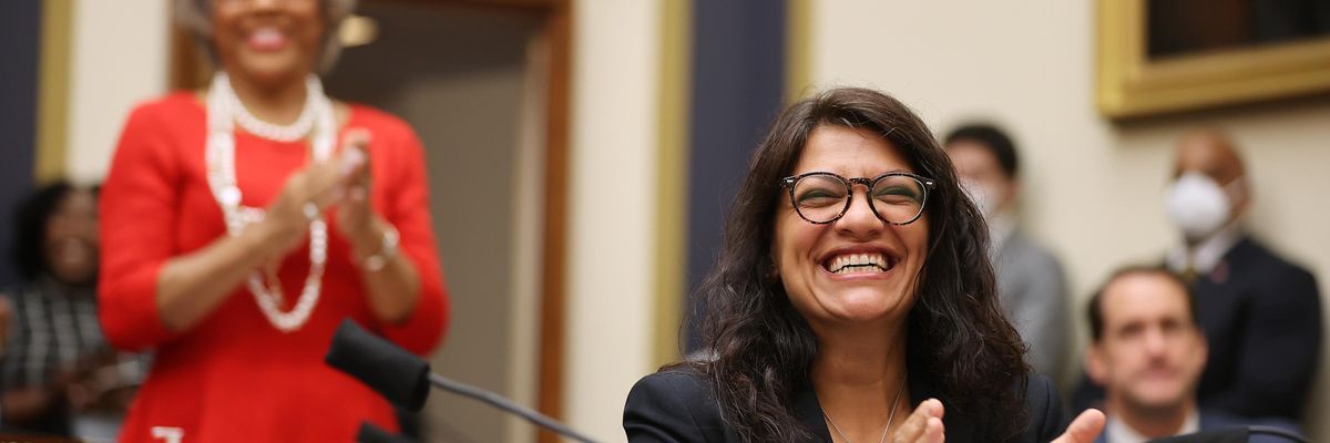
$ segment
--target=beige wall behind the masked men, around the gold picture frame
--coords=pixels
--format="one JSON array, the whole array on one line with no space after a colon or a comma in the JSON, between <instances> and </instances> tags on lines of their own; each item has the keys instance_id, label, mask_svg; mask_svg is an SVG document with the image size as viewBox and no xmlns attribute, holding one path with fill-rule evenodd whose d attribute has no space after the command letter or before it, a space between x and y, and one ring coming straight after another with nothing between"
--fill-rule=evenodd
<instances>
[{"instance_id":1,"label":"beige wall behind the masked men, around the gold picture frame","mask_svg":"<svg viewBox=\"0 0 1330 443\"><path fill-rule=\"evenodd\" d=\"M1162 192L1174 138L1197 125L1232 130L1256 185L1250 225L1330 293L1330 101L1111 124L1092 101L1093 4L814 3L811 80L887 90L938 133L970 117L1009 128L1024 161L1027 227L1063 258L1079 325L1084 299L1111 269L1157 261L1177 241ZM1325 438L1326 365L1321 380L1307 423Z\"/></svg>"}]
</instances>

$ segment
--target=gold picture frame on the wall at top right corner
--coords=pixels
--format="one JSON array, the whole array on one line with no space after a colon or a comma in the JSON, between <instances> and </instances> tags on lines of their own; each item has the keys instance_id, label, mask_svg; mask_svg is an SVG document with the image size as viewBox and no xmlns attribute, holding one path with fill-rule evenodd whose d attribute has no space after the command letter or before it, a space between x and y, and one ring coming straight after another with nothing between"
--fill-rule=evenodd
<instances>
[{"instance_id":1,"label":"gold picture frame on the wall at top right corner","mask_svg":"<svg viewBox=\"0 0 1330 443\"><path fill-rule=\"evenodd\" d=\"M1330 37L1149 60L1149 0L1099 0L1096 104L1133 118L1330 90Z\"/></svg>"}]
</instances>

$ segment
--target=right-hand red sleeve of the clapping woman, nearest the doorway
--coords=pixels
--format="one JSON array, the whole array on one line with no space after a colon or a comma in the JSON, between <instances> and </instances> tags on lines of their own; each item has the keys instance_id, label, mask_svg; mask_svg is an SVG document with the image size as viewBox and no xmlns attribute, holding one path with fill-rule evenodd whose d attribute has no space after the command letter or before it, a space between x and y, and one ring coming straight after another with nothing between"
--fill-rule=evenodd
<instances>
[{"instance_id":1,"label":"right-hand red sleeve of the clapping woman, nearest the doorway","mask_svg":"<svg viewBox=\"0 0 1330 443\"><path fill-rule=\"evenodd\" d=\"M379 325L380 333L399 346L420 355L430 354L443 339L448 322L450 303L444 290L439 251L435 247L430 218L430 193L424 174L424 149L420 140L400 122L400 144L392 150L395 157L375 170L386 184L392 184L383 196L383 217L396 226L400 251L415 265L420 278L420 294L415 310L402 325ZM378 136L378 134L376 134Z\"/></svg>"}]
</instances>

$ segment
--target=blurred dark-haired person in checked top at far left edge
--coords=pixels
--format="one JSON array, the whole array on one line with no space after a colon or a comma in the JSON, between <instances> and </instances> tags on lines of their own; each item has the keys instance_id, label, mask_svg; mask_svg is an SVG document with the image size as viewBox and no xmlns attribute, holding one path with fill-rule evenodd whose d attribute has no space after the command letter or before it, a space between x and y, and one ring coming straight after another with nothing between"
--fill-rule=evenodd
<instances>
[{"instance_id":1,"label":"blurred dark-haired person in checked top at far left edge","mask_svg":"<svg viewBox=\"0 0 1330 443\"><path fill-rule=\"evenodd\" d=\"M24 283L0 359L0 407L11 432L114 438L141 379L97 323L96 189L48 185L19 209L15 261Z\"/></svg>"}]
</instances>

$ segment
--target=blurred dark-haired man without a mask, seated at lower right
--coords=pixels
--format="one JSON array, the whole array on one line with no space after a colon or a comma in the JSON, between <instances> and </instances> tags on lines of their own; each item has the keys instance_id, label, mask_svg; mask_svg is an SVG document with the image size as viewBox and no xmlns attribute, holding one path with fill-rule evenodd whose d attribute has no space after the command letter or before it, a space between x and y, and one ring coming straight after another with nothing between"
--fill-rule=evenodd
<instances>
[{"instance_id":1,"label":"blurred dark-haired man without a mask, seated at lower right","mask_svg":"<svg viewBox=\"0 0 1330 443\"><path fill-rule=\"evenodd\" d=\"M1166 269L1125 267L1089 301L1085 367L1104 386L1100 443L1138 443L1248 424L1297 432L1281 420L1240 419L1197 406L1206 342L1186 285ZM1253 436L1253 442L1281 442Z\"/></svg>"}]
</instances>

